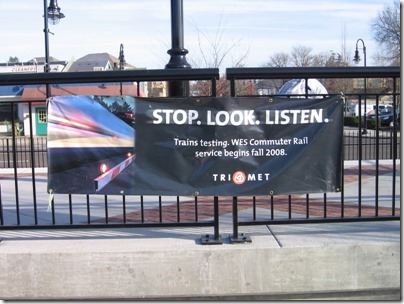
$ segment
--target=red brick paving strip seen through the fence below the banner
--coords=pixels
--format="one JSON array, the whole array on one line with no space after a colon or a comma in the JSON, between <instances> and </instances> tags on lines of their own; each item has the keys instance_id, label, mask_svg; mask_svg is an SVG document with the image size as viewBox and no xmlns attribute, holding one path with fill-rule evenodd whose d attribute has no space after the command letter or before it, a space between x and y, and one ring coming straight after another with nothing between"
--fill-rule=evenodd
<instances>
[{"instance_id":1,"label":"red brick paving strip seen through the fence below the banner","mask_svg":"<svg viewBox=\"0 0 404 304\"><path fill-rule=\"evenodd\" d=\"M379 175L392 172L392 165L379 165ZM396 166L399 170L399 166ZM374 166L362 166L361 168L362 180L374 177L376 174ZM357 182L359 178L358 167L345 168L344 169L344 183ZM233 198L232 197L219 197L219 215L229 214L232 212ZM274 196L272 202L275 219L277 212L289 212L289 196ZM341 217L342 216L342 205L341 201L331 201L326 200L326 204L323 199L313 199L309 197L309 204L307 208L306 195L292 195L291 196L291 213L293 217L296 214L301 215L300 217L309 215L310 218L313 217L324 217L324 207L326 207L326 217ZM253 197L238 197L237 198L238 211L245 209L250 209L253 207ZM271 197L256 197L255 198L256 208L262 208L268 210L268 219L271 217ZM196 218L196 208L197 208L197 218ZM357 217L359 216L375 216L376 212L378 216L390 216L392 215L392 208L378 207L376 210L375 206L362 205L359 211L358 204L344 202L343 205L343 216L344 217ZM252 214L252 212L251 212ZM400 209L395 209L395 215L400 215ZM181 202L179 204L179 218L178 218L178 207L176 203L171 205L165 205L161 207L161 215L159 208L145 209L143 213L143 222L196 222L197 220L203 220L206 218L213 217L213 197L198 197L197 204L194 200ZM251 215L252 216L252 215ZM262 217L262 212L260 217ZM109 222L122 222L123 215L113 216L108 218ZM105 219L97 220L97 222L105 222ZM126 222L142 222L142 215L140 211L129 212L126 214Z\"/></svg>"}]
</instances>

